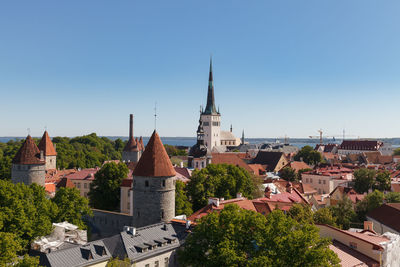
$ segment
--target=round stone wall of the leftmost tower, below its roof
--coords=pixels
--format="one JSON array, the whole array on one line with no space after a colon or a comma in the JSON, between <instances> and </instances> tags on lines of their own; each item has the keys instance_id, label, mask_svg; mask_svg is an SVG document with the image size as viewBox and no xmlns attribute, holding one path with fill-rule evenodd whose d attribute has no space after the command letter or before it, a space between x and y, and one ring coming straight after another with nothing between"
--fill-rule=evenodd
<instances>
[{"instance_id":1,"label":"round stone wall of the leftmost tower, below its roof","mask_svg":"<svg viewBox=\"0 0 400 267\"><path fill-rule=\"evenodd\" d=\"M37 183L44 186L45 165L25 165L13 164L11 169L11 181L16 183L24 183L30 185Z\"/></svg>"}]
</instances>

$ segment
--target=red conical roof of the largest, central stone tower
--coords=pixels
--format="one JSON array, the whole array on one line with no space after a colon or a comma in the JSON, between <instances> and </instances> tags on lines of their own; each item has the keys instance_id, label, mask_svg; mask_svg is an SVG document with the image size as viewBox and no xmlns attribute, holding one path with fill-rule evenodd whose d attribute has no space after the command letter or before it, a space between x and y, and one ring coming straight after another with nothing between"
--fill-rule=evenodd
<instances>
[{"instance_id":1,"label":"red conical roof of the largest, central stone tower","mask_svg":"<svg viewBox=\"0 0 400 267\"><path fill-rule=\"evenodd\" d=\"M165 151L160 137L154 130L149 142L147 143L146 149L140 157L136 168L133 170L133 175L164 177L175 176L175 174L174 167L172 167L167 151Z\"/></svg>"}]
</instances>

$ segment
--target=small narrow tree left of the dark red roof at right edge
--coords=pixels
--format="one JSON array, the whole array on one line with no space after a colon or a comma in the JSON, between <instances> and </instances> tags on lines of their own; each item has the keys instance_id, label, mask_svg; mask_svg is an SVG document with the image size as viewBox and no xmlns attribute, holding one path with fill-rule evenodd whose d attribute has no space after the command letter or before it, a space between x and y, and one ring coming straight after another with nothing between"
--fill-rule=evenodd
<instances>
[{"instance_id":1,"label":"small narrow tree left of the dark red roof at right edge","mask_svg":"<svg viewBox=\"0 0 400 267\"><path fill-rule=\"evenodd\" d=\"M342 229L349 229L350 223L355 220L356 214L353 209L353 202L348 197L339 200L336 206L329 207L336 223Z\"/></svg>"}]
</instances>

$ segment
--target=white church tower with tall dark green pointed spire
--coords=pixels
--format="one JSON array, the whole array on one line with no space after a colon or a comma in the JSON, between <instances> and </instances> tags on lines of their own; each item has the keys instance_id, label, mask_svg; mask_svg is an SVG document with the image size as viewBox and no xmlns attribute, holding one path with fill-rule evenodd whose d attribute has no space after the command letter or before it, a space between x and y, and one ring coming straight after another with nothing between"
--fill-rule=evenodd
<instances>
[{"instance_id":1,"label":"white church tower with tall dark green pointed spire","mask_svg":"<svg viewBox=\"0 0 400 267\"><path fill-rule=\"evenodd\" d=\"M214 146L221 145L221 114L215 108L214 81L212 72L212 60L210 59L210 74L208 78L208 93L206 109L201 113L201 121L204 128L204 144L209 151Z\"/></svg>"}]
</instances>

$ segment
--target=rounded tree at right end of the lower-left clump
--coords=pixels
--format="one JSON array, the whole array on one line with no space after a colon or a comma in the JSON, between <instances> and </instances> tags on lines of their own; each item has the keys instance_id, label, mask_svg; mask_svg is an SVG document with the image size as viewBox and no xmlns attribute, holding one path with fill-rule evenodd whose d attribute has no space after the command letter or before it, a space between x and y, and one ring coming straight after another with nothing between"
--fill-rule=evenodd
<instances>
[{"instance_id":1,"label":"rounded tree at right end of the lower-left clump","mask_svg":"<svg viewBox=\"0 0 400 267\"><path fill-rule=\"evenodd\" d=\"M82 217L92 215L92 210L89 208L89 201L80 195L78 189L61 187L52 201L58 207L55 221L67 221L75 224L80 229L86 229L86 224L83 222Z\"/></svg>"}]
</instances>

